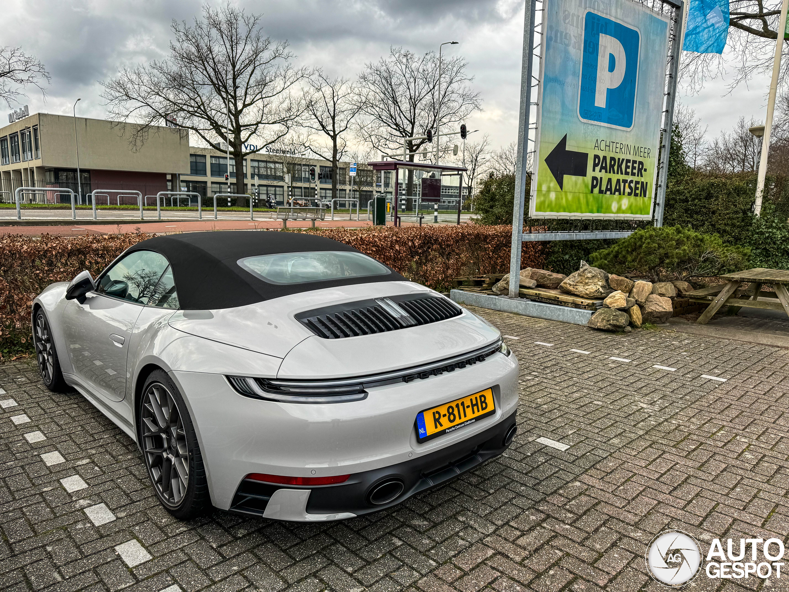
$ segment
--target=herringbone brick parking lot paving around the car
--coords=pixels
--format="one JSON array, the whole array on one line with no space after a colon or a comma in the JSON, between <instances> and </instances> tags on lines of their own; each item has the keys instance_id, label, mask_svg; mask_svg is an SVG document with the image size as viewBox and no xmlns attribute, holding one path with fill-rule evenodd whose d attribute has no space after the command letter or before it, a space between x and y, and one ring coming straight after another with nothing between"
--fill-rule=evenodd
<instances>
[{"instance_id":1,"label":"herringbone brick parking lot paving around the car","mask_svg":"<svg viewBox=\"0 0 789 592\"><path fill-rule=\"evenodd\" d=\"M786 538L789 350L477 312L521 360L512 448L342 523L179 523L120 429L0 365L0 590L666 590L644 561L665 528Z\"/></svg>"}]
</instances>

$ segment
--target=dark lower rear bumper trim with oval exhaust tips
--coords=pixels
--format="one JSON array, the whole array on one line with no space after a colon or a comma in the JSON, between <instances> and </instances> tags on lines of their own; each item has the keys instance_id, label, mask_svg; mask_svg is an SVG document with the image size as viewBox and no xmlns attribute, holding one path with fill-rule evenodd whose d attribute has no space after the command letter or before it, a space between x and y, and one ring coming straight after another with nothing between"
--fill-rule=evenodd
<instances>
[{"instance_id":1,"label":"dark lower rear bumper trim with oval exhaust tips","mask_svg":"<svg viewBox=\"0 0 789 592\"><path fill-rule=\"evenodd\" d=\"M352 474L348 481L338 485L300 487L245 479L236 490L230 511L307 522L349 519L391 508L501 455L509 447L505 438L514 425L512 413L483 432L447 448L404 463ZM390 481L401 483L402 493L387 503L372 503L371 491Z\"/></svg>"}]
</instances>

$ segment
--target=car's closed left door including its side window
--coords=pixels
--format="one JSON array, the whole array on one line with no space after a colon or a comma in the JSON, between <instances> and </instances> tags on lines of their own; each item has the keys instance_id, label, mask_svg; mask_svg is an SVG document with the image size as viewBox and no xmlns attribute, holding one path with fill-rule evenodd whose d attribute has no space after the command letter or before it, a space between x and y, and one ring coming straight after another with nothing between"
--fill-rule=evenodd
<instances>
[{"instance_id":1,"label":"car's closed left door including its side window","mask_svg":"<svg viewBox=\"0 0 789 592\"><path fill-rule=\"evenodd\" d=\"M89 388L111 401L126 392L126 363L134 324L168 263L153 251L134 251L96 280L83 303L69 300L63 331L74 372Z\"/></svg>"}]
</instances>

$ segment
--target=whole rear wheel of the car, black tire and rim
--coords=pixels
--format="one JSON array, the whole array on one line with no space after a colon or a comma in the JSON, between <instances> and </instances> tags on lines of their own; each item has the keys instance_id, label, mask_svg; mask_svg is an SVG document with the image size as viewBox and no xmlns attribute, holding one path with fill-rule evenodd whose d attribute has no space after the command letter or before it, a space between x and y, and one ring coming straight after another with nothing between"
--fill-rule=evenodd
<instances>
[{"instance_id":1,"label":"whole rear wheel of the car, black tire and rim","mask_svg":"<svg viewBox=\"0 0 789 592\"><path fill-rule=\"evenodd\" d=\"M164 370L145 380L137 409L140 448L156 497L166 511L189 520L210 506L203 456L178 387Z\"/></svg>"}]
</instances>

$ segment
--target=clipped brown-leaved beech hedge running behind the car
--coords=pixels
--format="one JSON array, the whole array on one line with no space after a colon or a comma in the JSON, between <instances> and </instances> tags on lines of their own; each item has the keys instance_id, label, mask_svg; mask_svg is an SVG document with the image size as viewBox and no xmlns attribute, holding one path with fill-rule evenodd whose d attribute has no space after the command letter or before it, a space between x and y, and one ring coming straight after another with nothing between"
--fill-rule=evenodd
<instances>
[{"instance_id":1,"label":"clipped brown-leaved beech hedge running behind the car","mask_svg":"<svg viewBox=\"0 0 789 592\"><path fill-rule=\"evenodd\" d=\"M451 278L504 273L510 264L511 227L425 226L301 230L351 245L414 282L446 291ZM67 282L83 269L95 277L129 246L151 234L128 233L41 238L0 238L0 353L32 351L33 298L53 282ZM522 266L544 265L544 243L525 243Z\"/></svg>"}]
</instances>

